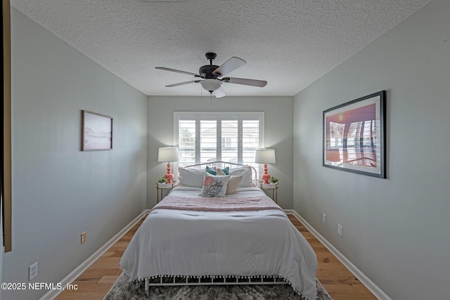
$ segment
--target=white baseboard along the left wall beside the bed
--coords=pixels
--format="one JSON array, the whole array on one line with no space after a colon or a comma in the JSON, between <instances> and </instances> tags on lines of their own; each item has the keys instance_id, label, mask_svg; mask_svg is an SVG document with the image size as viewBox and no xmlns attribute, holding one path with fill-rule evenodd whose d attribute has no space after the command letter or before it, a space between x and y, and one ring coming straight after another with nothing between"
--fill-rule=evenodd
<instances>
[{"instance_id":1,"label":"white baseboard along the left wall beside the bed","mask_svg":"<svg viewBox=\"0 0 450 300\"><path fill-rule=\"evenodd\" d=\"M83 261L83 263L77 266L75 270L72 270L72 272L70 272L69 275L65 276L65 278L60 280L61 285L63 287L66 287L67 285L70 285L72 282L74 282L79 277L79 275L82 275L82 273L85 270L87 270L87 268L89 268L89 266L91 266L92 263L94 263L98 258L100 258L100 256L102 256L105 252L107 252L108 249L110 249L110 247L113 246L113 244L115 244L115 242L120 240L120 238L124 236L125 233L127 233L128 230L130 230L136 223L138 223L139 220L143 218L143 216L148 214L149 211L150 211L149 209L146 209L141 214L139 214L139 216L136 216L136 218L133 221L131 221L127 226L125 226L125 228L120 230L120 232L117 233L117 235L113 236L110 240L108 240L108 242L103 244L103 246L100 247L100 249L98 249L96 252L94 252L94 254L89 256L89 258L86 259L86 261ZM58 296L58 294L60 294L61 292L63 292L63 289L61 290L51 289L49 292L44 294L44 296L41 296L39 300L55 299L56 296Z\"/></svg>"}]
</instances>

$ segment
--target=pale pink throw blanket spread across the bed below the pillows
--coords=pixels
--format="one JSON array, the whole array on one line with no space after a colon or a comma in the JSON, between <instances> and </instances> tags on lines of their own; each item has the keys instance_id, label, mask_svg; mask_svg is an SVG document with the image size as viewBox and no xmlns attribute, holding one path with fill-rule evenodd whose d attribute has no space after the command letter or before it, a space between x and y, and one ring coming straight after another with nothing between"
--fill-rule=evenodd
<instances>
[{"instance_id":1,"label":"pale pink throw blanket spread across the bed below the pillows","mask_svg":"<svg viewBox=\"0 0 450 300\"><path fill-rule=\"evenodd\" d=\"M168 195L155 209L181 209L193 211L257 211L281 209L269 197L179 197ZM283 210L283 209L281 209Z\"/></svg>"}]
</instances>

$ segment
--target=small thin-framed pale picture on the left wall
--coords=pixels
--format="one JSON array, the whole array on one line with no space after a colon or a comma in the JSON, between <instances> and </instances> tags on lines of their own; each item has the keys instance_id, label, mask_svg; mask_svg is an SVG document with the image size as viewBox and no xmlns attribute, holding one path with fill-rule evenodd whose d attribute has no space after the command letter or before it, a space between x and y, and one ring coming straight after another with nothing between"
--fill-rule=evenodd
<instances>
[{"instance_id":1,"label":"small thin-framed pale picture on the left wall","mask_svg":"<svg viewBox=\"0 0 450 300\"><path fill-rule=\"evenodd\" d=\"M113 149L113 118L82 110L82 151Z\"/></svg>"}]
</instances>

